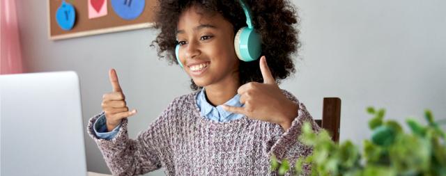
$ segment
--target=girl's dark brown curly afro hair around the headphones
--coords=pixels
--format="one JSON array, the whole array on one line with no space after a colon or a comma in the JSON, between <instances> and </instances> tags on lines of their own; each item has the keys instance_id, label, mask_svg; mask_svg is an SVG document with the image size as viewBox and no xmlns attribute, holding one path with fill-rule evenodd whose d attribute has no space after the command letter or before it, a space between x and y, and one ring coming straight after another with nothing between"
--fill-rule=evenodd
<instances>
[{"instance_id":1,"label":"girl's dark brown curly afro hair around the headphones","mask_svg":"<svg viewBox=\"0 0 446 176\"><path fill-rule=\"evenodd\" d=\"M293 55L298 55L300 41L298 34L299 20L295 7L285 0L245 0L251 11L252 24L261 35L261 56L266 56L272 77L277 83L286 79L295 72ZM160 58L172 64L178 62L175 56L176 31L178 19L187 8L197 6L206 12L220 13L224 19L233 24L233 31L247 26L245 13L239 1L234 0L159 0L157 14L155 15L155 29L160 29L157 38L153 40ZM251 62L240 61L240 85L256 81L263 82L259 67L259 59ZM199 90L191 79L190 88Z\"/></svg>"}]
</instances>

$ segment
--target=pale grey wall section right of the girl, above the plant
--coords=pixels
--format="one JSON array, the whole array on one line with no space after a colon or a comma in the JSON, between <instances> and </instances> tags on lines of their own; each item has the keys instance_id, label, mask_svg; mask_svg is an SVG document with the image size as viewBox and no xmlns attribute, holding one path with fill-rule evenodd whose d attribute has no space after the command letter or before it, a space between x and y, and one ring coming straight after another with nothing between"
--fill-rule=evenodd
<instances>
[{"instance_id":1,"label":"pale grey wall section right of the girl, above the plant","mask_svg":"<svg viewBox=\"0 0 446 176\"><path fill-rule=\"evenodd\" d=\"M341 140L369 135L366 106L388 118L446 116L445 1L294 1L304 42L295 93L314 117L323 97L342 99Z\"/></svg>"}]
</instances>

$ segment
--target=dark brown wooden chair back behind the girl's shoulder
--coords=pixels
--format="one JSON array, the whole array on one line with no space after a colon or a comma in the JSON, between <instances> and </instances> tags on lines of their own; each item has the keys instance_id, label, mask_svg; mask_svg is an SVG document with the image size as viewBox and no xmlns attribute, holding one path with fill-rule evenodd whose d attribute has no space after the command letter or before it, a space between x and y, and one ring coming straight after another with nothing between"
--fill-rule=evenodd
<instances>
[{"instance_id":1,"label":"dark brown wooden chair back behind the girl's shoulder","mask_svg":"<svg viewBox=\"0 0 446 176\"><path fill-rule=\"evenodd\" d=\"M341 123L341 99L324 97L322 120L314 120L323 129L330 131L334 142L339 141L339 126Z\"/></svg>"}]
</instances>

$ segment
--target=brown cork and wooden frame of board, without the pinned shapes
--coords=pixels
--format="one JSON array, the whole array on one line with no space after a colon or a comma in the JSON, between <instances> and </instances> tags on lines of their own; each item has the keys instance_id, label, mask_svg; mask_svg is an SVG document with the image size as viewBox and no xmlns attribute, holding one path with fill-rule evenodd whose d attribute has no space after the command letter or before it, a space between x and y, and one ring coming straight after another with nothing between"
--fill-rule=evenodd
<instances>
[{"instance_id":1,"label":"brown cork and wooden frame of board, without the pinned shapes","mask_svg":"<svg viewBox=\"0 0 446 176\"><path fill-rule=\"evenodd\" d=\"M78 38L102 33L114 33L118 31L129 31L136 29L151 28L155 25L155 8L157 0L144 0L145 7L143 13L136 19L125 20L119 17L112 8L110 0L107 1L107 15L89 19L87 0L66 0L73 3L76 8L76 22L72 30L64 31L56 22L56 10L63 0L47 0L48 12L48 39L63 40L68 38Z\"/></svg>"}]
</instances>

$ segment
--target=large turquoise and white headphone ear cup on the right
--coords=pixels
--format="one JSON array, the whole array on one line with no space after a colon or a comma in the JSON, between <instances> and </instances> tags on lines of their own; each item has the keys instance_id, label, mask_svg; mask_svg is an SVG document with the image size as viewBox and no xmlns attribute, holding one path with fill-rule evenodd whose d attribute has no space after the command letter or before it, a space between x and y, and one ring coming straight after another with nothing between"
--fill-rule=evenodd
<instances>
[{"instance_id":1,"label":"large turquoise and white headphone ear cup on the right","mask_svg":"<svg viewBox=\"0 0 446 176\"><path fill-rule=\"evenodd\" d=\"M234 38L234 49L242 61L255 61L261 54L261 38L254 29L243 27L238 30Z\"/></svg>"}]
</instances>

